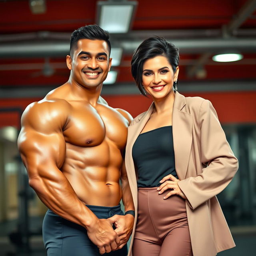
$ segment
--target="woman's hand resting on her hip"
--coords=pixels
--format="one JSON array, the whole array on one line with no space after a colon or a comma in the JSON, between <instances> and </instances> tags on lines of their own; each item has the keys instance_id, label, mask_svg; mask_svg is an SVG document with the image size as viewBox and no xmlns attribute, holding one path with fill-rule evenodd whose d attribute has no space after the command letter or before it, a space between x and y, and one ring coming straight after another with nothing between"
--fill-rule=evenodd
<instances>
[{"instance_id":1,"label":"woman's hand resting on her hip","mask_svg":"<svg viewBox=\"0 0 256 256\"><path fill-rule=\"evenodd\" d=\"M187 199L180 187L178 186L178 182L180 180L175 178L172 174L169 174L162 178L160 180L160 183L162 183L157 190L159 191L158 194L162 194L165 190L172 189L166 196L164 196L164 199L167 199L168 197L172 195L178 195L184 199Z\"/></svg>"}]
</instances>

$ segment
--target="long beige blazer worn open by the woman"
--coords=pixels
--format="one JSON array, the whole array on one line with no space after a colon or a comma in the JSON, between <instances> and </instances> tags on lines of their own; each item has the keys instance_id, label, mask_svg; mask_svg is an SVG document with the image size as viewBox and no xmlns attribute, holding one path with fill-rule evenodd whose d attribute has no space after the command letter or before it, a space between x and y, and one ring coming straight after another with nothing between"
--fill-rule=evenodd
<instances>
[{"instance_id":1,"label":"long beige blazer worn open by the woman","mask_svg":"<svg viewBox=\"0 0 256 256\"><path fill-rule=\"evenodd\" d=\"M134 118L128 128L125 164L137 220L137 182L132 146L154 109ZM238 169L212 104L200 97L184 97L176 92L172 131L178 185L186 197L188 226L194 256L214 256L235 246L216 195L232 180ZM168 203L168 201L166 201ZM171 245L170 245L171 250ZM134 255L139 256L139 255Z\"/></svg>"}]
</instances>

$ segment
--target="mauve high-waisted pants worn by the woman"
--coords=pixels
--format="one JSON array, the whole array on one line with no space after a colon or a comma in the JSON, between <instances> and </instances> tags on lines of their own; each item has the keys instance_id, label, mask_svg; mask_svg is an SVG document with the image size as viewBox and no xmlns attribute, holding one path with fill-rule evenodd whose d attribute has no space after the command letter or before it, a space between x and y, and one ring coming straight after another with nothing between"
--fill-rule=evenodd
<instances>
[{"instance_id":1,"label":"mauve high-waisted pants worn by the woman","mask_svg":"<svg viewBox=\"0 0 256 256\"><path fill-rule=\"evenodd\" d=\"M185 200L156 188L138 188L132 256L193 256Z\"/></svg>"}]
</instances>

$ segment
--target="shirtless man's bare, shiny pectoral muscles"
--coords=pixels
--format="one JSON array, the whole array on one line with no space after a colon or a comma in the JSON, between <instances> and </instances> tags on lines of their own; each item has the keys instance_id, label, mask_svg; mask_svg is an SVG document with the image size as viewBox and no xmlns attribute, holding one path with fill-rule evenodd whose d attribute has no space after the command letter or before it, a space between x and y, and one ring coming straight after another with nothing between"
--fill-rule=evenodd
<instances>
[{"instance_id":1,"label":"shirtless man's bare, shiny pectoral muscles","mask_svg":"<svg viewBox=\"0 0 256 256\"><path fill-rule=\"evenodd\" d=\"M98 146L108 140L123 149L127 138L127 120L109 107L95 109L92 106L73 108L63 135L66 142L80 146Z\"/></svg>"}]
</instances>

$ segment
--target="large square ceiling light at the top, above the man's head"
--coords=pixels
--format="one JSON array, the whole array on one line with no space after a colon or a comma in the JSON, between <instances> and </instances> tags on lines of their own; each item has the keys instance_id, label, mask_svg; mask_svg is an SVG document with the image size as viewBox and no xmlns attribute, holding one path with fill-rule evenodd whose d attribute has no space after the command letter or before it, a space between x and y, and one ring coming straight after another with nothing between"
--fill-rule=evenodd
<instances>
[{"instance_id":1,"label":"large square ceiling light at the top, above the man's head","mask_svg":"<svg viewBox=\"0 0 256 256\"><path fill-rule=\"evenodd\" d=\"M98 1L97 24L110 33L127 33L134 18L137 1Z\"/></svg>"}]
</instances>

